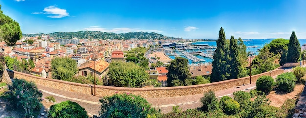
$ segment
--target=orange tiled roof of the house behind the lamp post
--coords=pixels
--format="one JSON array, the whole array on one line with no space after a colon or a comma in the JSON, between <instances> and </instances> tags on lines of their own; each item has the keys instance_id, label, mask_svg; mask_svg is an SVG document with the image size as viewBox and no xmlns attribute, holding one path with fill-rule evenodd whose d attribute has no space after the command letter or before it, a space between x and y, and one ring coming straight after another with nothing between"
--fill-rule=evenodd
<instances>
[{"instance_id":1,"label":"orange tiled roof of the house behind the lamp post","mask_svg":"<svg viewBox=\"0 0 306 118\"><path fill-rule=\"evenodd\" d=\"M91 68L94 70L94 61L91 61L90 64L87 64L85 66L81 66L79 67L79 69L83 69L83 68ZM96 71L98 71L99 73L102 73L104 70L106 70L109 67L109 63L104 61L104 60L98 60L96 61Z\"/></svg>"}]
</instances>

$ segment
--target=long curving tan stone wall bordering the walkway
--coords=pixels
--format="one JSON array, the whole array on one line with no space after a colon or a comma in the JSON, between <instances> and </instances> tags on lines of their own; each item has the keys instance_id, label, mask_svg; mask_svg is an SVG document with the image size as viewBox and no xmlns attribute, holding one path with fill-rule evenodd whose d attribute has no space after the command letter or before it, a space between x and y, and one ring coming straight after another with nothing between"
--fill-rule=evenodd
<instances>
[{"instance_id":1,"label":"long curving tan stone wall bordering the walkway","mask_svg":"<svg viewBox=\"0 0 306 118\"><path fill-rule=\"evenodd\" d=\"M276 69L270 72L265 72L262 74L254 75L251 77L252 83L262 76L275 76L284 73L284 70ZM80 84L74 82L61 81L56 79L48 79L37 77L17 71L10 71L9 74L14 78L26 79L27 81L34 81L38 85L43 85L46 87L61 89L64 91L80 92L84 94L92 94L93 85ZM157 87L157 88L127 88L127 87L113 87L113 86L100 86L96 85L96 95L106 96L113 95L115 93L133 93L135 95L141 95L144 98L158 98L158 97L172 97L172 96L186 96L194 94L202 94L209 90L218 91L224 90L244 84L250 83L250 77L243 77L239 79L231 79L226 81L192 85L192 86L178 86L178 87Z\"/></svg>"}]
</instances>

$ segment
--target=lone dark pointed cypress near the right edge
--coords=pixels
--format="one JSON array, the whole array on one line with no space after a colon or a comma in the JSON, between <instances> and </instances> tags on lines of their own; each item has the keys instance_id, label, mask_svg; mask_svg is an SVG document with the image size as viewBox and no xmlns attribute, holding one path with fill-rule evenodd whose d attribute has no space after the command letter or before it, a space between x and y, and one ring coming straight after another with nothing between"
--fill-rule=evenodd
<instances>
[{"instance_id":1,"label":"lone dark pointed cypress near the right edge","mask_svg":"<svg viewBox=\"0 0 306 118\"><path fill-rule=\"evenodd\" d=\"M292 31L288 45L287 62L298 62L300 54L301 54L301 45L299 43L298 38L295 35L295 32Z\"/></svg>"}]
</instances>

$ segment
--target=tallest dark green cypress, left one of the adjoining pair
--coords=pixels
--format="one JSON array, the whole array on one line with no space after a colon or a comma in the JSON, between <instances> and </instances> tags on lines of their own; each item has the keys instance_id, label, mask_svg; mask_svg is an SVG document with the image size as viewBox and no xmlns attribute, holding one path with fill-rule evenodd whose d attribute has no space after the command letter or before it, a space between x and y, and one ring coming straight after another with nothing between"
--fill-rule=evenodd
<instances>
[{"instance_id":1,"label":"tallest dark green cypress, left one of the adjoining pair","mask_svg":"<svg viewBox=\"0 0 306 118\"><path fill-rule=\"evenodd\" d=\"M228 59L228 48L226 45L225 32L221 27L219 31L219 38L216 41L217 48L213 56L213 69L210 75L211 82L222 81L227 79L227 59Z\"/></svg>"}]
</instances>

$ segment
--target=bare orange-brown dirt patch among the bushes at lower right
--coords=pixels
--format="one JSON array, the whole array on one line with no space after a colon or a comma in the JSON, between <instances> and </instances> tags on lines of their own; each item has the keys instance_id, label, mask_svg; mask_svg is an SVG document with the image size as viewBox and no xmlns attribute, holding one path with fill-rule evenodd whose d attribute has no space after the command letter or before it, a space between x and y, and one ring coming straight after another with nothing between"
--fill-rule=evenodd
<instances>
[{"instance_id":1,"label":"bare orange-brown dirt patch among the bushes at lower right","mask_svg":"<svg viewBox=\"0 0 306 118\"><path fill-rule=\"evenodd\" d=\"M297 84L294 87L294 91L290 93L281 94L281 93L276 93L275 91L272 91L266 97L270 99L271 101L270 105L275 106L275 107L281 107L287 99L293 99L297 97L297 95L303 91L303 88L304 88L303 84Z\"/></svg>"}]
</instances>

